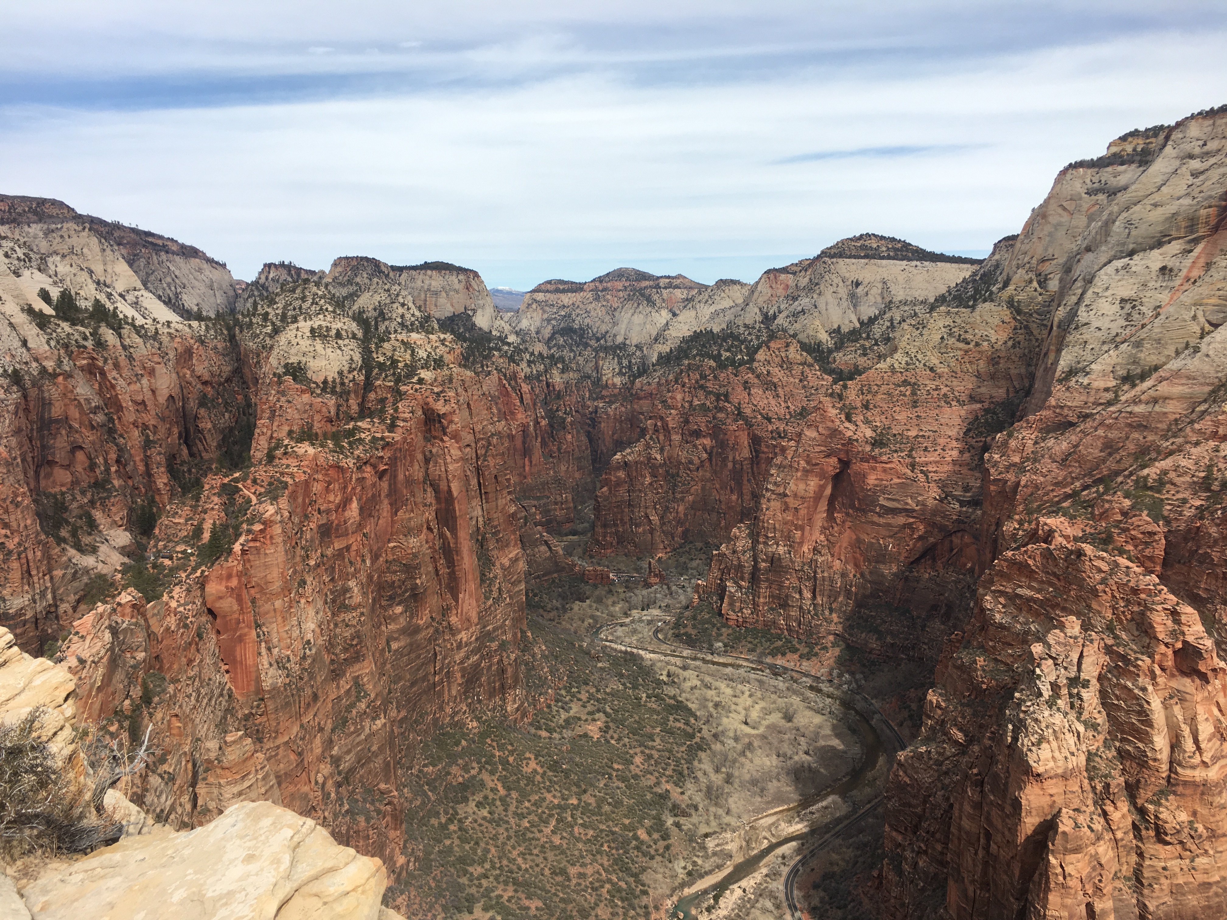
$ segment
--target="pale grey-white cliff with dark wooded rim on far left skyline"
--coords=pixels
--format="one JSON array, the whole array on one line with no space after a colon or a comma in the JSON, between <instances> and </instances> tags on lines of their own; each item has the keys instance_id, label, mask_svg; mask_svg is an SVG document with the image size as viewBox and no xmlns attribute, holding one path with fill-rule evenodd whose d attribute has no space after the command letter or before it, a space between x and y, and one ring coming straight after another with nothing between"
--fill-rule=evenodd
<instances>
[{"instance_id":1,"label":"pale grey-white cliff with dark wooded rim on far left skyline","mask_svg":"<svg viewBox=\"0 0 1227 920\"><path fill-rule=\"evenodd\" d=\"M212 316L234 309L236 282L222 263L169 237L77 213L55 199L0 195L0 238L28 247L37 270L53 269L74 291L88 289L91 280L109 282L141 313L161 307L179 316L196 310Z\"/></svg>"}]
</instances>

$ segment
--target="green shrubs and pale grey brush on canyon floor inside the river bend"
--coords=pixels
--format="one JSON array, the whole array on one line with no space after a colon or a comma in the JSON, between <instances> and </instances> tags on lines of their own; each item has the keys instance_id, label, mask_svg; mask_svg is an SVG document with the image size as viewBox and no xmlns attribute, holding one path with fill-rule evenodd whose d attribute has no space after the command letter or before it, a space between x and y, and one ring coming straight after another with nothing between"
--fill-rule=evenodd
<instances>
[{"instance_id":1,"label":"green shrubs and pale grey brush on canyon floor inside the river bend","mask_svg":"<svg viewBox=\"0 0 1227 920\"><path fill-rule=\"evenodd\" d=\"M677 577L704 558L688 546L664 563ZM828 700L590 635L632 612L671 616L686 597L677 585L573 577L530 585L521 648L541 708L526 724L483 716L417 748L401 788L411 870L391 892L410 914L664 916L679 891L734 859L744 819L848 769L855 742ZM756 903L734 915L757 915Z\"/></svg>"}]
</instances>

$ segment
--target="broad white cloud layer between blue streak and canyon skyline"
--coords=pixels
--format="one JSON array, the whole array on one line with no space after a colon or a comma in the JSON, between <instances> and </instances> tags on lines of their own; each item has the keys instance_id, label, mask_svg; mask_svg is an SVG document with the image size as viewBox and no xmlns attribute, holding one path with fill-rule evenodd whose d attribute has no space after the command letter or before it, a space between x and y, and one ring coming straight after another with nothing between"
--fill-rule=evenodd
<instances>
[{"instance_id":1,"label":"broad white cloud layer between blue streak and canyon skyline","mask_svg":"<svg viewBox=\"0 0 1227 920\"><path fill-rule=\"evenodd\" d=\"M351 37L313 56L344 70L367 56ZM602 260L664 272L674 259L714 280L861 231L984 249L1066 162L1227 102L1223 38L1147 33L872 71L818 55L707 79L699 56L682 66L691 79L661 81L606 61L347 98L10 105L0 188L168 233L242 277L266 260L361 253L447 259L520 289ZM456 54L466 72L507 77L575 48L542 32ZM815 157L891 150L914 153Z\"/></svg>"}]
</instances>

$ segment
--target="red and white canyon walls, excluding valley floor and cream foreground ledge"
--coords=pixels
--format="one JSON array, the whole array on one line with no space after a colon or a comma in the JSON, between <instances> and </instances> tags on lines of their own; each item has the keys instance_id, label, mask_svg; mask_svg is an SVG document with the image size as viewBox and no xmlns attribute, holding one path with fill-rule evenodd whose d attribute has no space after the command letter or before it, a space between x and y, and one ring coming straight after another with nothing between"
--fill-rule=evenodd
<instances>
[{"instance_id":1,"label":"red and white canyon walls, excluding valley floor and cream foreground ledge","mask_svg":"<svg viewBox=\"0 0 1227 920\"><path fill-rule=\"evenodd\" d=\"M281 806L452 915L405 883L423 752L548 723L540 611L683 585L910 741L866 910L1227 913L1225 217L1215 109L1071 163L983 260L865 233L502 314L448 263L245 283L0 196L0 627L152 740L151 822Z\"/></svg>"}]
</instances>

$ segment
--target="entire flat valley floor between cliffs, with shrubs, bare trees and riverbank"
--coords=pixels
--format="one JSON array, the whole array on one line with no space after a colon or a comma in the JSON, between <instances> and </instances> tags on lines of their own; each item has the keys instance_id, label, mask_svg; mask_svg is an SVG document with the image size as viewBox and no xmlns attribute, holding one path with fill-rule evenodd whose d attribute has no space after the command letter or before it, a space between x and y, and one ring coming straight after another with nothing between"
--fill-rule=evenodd
<instances>
[{"instance_id":1,"label":"entire flat valley floor between cliffs, with shrubs, bare trees and riverbank","mask_svg":"<svg viewBox=\"0 0 1227 920\"><path fill-rule=\"evenodd\" d=\"M691 585L675 569L654 588L557 579L530 590L523 648L544 704L523 725L480 718L421 745L401 789L409 871L388 903L440 920L663 919L679 898L701 916L787 915L783 878L810 830L872 799L887 761L875 754L854 790L815 796L864 773L863 732L799 676L670 656L671 631L693 628ZM812 671L836 655L783 642L763 651ZM869 915L875 822L807 861L804 907ZM739 881L713 891L735 865Z\"/></svg>"}]
</instances>

